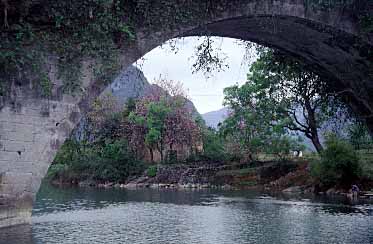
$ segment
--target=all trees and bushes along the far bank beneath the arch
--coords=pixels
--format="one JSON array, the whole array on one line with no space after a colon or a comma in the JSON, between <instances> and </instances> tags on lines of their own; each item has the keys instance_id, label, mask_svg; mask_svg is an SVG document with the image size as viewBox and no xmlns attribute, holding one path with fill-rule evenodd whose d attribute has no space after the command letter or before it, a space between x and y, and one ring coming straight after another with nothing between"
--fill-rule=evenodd
<instances>
[{"instance_id":1,"label":"all trees and bushes along the far bank beneath the arch","mask_svg":"<svg viewBox=\"0 0 373 244\"><path fill-rule=\"evenodd\" d=\"M160 164L219 162L243 165L235 169L238 178L252 185L246 178L263 161L292 161L294 151L306 152L309 140L315 152L305 153L309 167L303 173L319 189L368 186L372 138L327 84L297 60L260 49L247 82L225 89L230 114L218 130L192 113L182 87L172 81L158 81L124 108L103 96L88 114L84 138L63 146L49 179L124 183L144 172L156 177Z\"/></svg>"}]
</instances>

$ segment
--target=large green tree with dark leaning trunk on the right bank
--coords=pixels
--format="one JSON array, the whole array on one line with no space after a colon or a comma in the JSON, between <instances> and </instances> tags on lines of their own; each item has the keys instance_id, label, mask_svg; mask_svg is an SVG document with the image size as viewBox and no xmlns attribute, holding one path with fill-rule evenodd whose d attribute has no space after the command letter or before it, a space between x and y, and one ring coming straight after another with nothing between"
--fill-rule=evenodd
<instances>
[{"instance_id":1,"label":"large green tree with dark leaning trunk on the right bank","mask_svg":"<svg viewBox=\"0 0 373 244\"><path fill-rule=\"evenodd\" d=\"M334 94L327 91L327 82L301 62L264 50L251 66L247 82L225 90L225 103L246 126L260 122L254 123L250 133L258 127L270 134L283 129L301 132L321 152L319 128L337 104Z\"/></svg>"}]
</instances>

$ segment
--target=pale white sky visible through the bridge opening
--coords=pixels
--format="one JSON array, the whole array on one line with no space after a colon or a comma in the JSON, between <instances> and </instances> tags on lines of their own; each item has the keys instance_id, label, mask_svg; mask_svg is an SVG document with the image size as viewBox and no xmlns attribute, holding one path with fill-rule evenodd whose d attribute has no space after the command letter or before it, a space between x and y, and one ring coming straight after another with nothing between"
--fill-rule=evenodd
<instances>
[{"instance_id":1,"label":"pale white sky visible through the bridge opening","mask_svg":"<svg viewBox=\"0 0 373 244\"><path fill-rule=\"evenodd\" d=\"M220 48L226 56L225 63L228 68L212 73L210 78L206 78L202 72L192 73L195 47L202 42L198 37L178 40L176 54L167 43L157 47L135 65L144 72L150 83L160 76L182 82L189 98L201 114L219 110L223 107L223 89L235 84L241 85L246 81L246 74L250 63L255 60L255 54L250 50L249 55L245 55L246 48L235 39L219 37L213 41L214 48Z\"/></svg>"}]
</instances>

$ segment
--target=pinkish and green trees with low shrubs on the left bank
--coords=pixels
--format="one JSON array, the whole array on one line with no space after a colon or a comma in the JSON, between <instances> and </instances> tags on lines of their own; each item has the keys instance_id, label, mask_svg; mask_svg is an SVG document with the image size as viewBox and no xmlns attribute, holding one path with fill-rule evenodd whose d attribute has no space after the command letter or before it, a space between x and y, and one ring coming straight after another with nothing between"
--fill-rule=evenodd
<instances>
[{"instance_id":1,"label":"pinkish and green trees with low shrubs on the left bank","mask_svg":"<svg viewBox=\"0 0 373 244\"><path fill-rule=\"evenodd\" d=\"M204 127L182 92L179 83L159 80L124 108L112 95L102 96L88 114L80 140L71 138L58 152L48 178L125 182L147 167L155 175L153 165L195 155Z\"/></svg>"}]
</instances>

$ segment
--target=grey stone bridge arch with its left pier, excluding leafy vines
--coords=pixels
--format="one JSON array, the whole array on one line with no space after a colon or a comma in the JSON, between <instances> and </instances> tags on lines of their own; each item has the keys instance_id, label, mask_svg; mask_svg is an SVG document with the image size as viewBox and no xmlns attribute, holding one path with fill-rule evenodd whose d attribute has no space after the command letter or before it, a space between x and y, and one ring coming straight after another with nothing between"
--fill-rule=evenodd
<instances>
[{"instance_id":1,"label":"grey stone bridge arch with its left pier, excluding leafy vines","mask_svg":"<svg viewBox=\"0 0 373 244\"><path fill-rule=\"evenodd\" d=\"M353 10L363 2L369 11L373 4L352 0L351 6L325 9L308 3L319 2L313 0L222 2L223 7L214 9L203 23L191 18L163 29L137 22L136 40L121 52L122 68L176 37L214 35L254 41L301 58L336 82L373 131L373 35L364 32ZM48 63L51 99L16 86L11 98L0 104L0 227L30 221L35 194L57 150L104 89L86 60L84 92L61 94L55 60L50 58Z\"/></svg>"}]
</instances>

